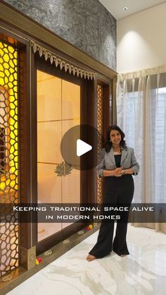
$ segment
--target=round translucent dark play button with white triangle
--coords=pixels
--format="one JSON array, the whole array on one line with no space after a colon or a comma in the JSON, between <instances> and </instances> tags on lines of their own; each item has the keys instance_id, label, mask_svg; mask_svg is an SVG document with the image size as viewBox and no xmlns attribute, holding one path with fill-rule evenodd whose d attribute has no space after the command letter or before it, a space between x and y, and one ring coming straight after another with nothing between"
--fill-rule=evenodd
<instances>
[{"instance_id":1,"label":"round translucent dark play button with white triangle","mask_svg":"<svg viewBox=\"0 0 166 295\"><path fill-rule=\"evenodd\" d=\"M88 170L97 165L99 134L89 125L77 125L70 128L60 143L63 159L73 169Z\"/></svg>"}]
</instances>

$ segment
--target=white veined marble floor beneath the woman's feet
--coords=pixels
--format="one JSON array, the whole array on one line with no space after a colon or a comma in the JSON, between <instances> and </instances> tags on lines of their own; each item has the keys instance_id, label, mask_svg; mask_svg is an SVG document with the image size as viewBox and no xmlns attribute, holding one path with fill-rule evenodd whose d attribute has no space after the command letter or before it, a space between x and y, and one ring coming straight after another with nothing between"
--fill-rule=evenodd
<instances>
[{"instance_id":1,"label":"white veined marble floor beneath the woman's feet","mask_svg":"<svg viewBox=\"0 0 166 295\"><path fill-rule=\"evenodd\" d=\"M98 232L60 256L8 295L164 295L166 235L129 225L130 255L87 262Z\"/></svg>"}]
</instances>

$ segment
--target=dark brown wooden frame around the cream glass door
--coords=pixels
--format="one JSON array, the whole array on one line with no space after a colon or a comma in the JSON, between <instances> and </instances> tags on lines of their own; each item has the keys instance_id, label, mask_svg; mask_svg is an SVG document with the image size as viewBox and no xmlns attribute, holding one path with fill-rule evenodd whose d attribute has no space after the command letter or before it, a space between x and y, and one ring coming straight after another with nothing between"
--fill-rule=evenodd
<instances>
[{"instance_id":1,"label":"dark brown wooden frame around the cream glass door","mask_svg":"<svg viewBox=\"0 0 166 295\"><path fill-rule=\"evenodd\" d=\"M51 65L49 62L46 62L44 59L41 59L39 56L34 54L32 61L34 70L32 70L32 92L33 92L33 104L32 104L32 138L33 138L33 153L32 153L32 187L33 187L33 203L37 203L37 70L44 71L44 73L49 73L58 78L62 78L63 80L67 80L68 82L75 83L81 87L81 102L80 102L80 124L89 124L94 125L94 116L93 116L93 98L94 98L94 81L84 80L82 78L77 78L76 76L72 76L69 73L65 73L65 71L60 70L59 68L55 68L55 66ZM91 110L92 116L87 114L87 109ZM80 171L81 172L81 185L80 185L80 200L81 203L88 203L88 200L91 195L95 195L95 183L94 178L91 178L91 170L88 171ZM89 181L91 179L91 181ZM87 189L88 188L88 189ZM79 231L83 227L86 227L88 223L85 222L75 222L75 224L71 224L69 227L61 230L60 232L53 234L52 236L40 241L37 241L37 224L33 224L33 245L36 246L37 255L46 251L46 249L51 248L56 245L63 239L66 239L68 236L71 236L75 232ZM53 226L53 224L52 224Z\"/></svg>"}]
</instances>

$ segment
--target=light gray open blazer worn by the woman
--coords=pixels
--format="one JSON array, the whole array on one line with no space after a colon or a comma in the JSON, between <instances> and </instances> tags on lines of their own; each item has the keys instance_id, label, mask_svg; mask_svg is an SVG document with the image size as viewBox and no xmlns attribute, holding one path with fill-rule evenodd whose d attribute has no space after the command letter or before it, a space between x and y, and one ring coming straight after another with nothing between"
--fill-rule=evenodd
<instances>
[{"instance_id":1,"label":"light gray open blazer worn by the woman","mask_svg":"<svg viewBox=\"0 0 166 295\"><path fill-rule=\"evenodd\" d=\"M137 175L139 173L139 163L136 161L136 157L134 155L134 149L127 147L121 148L122 150L122 156L121 156L121 162L120 166L123 167L123 169L133 169L134 175ZM105 155L102 155L104 154ZM105 150L101 151L101 162L97 166L97 174L100 177L103 177L103 170L113 170L116 169L115 164L115 157L113 153L113 148L110 149L110 152L106 152Z\"/></svg>"}]
</instances>

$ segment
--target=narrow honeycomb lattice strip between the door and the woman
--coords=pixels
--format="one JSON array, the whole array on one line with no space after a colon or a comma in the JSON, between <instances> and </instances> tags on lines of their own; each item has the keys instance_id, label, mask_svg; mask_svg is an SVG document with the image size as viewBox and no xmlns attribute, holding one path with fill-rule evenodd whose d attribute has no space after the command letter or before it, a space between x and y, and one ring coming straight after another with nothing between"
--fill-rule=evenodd
<instances>
[{"instance_id":1,"label":"narrow honeycomb lattice strip between the door and the woman","mask_svg":"<svg viewBox=\"0 0 166 295\"><path fill-rule=\"evenodd\" d=\"M100 159L100 151L102 148L102 136L103 136L103 86L97 85L97 129L98 129L98 146L97 156ZM97 203L101 203L102 200L102 179L97 179Z\"/></svg>"}]
</instances>

